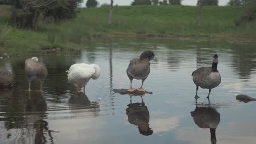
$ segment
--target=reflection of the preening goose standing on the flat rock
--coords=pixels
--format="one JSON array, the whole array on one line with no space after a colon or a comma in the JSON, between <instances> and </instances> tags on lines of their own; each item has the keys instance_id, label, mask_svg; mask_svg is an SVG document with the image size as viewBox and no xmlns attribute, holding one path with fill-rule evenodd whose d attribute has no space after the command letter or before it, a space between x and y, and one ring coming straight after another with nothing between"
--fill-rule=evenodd
<instances>
[{"instance_id":1,"label":"reflection of the preening goose standing on the flat rock","mask_svg":"<svg viewBox=\"0 0 256 144\"><path fill-rule=\"evenodd\" d=\"M128 108L126 109L126 115L128 116L128 121L131 124L138 126L140 134L146 136L152 135L153 130L149 128L149 111L143 99L141 103L132 103L130 100L130 104L127 106Z\"/></svg>"}]
</instances>

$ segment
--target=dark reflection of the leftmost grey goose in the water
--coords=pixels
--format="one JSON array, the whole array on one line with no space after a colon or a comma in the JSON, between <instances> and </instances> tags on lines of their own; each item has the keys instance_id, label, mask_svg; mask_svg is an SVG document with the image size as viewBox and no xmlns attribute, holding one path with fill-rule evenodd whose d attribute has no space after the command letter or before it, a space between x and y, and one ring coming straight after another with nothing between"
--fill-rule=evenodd
<instances>
[{"instance_id":1,"label":"dark reflection of the leftmost grey goose in the water","mask_svg":"<svg viewBox=\"0 0 256 144\"><path fill-rule=\"evenodd\" d=\"M34 139L31 137L34 143L54 143L52 130L49 130L48 122L44 120L46 111L47 104L40 93L36 93L32 97L29 95L26 103L26 123L28 129L35 130ZM49 137L49 140L46 137Z\"/></svg>"}]
</instances>

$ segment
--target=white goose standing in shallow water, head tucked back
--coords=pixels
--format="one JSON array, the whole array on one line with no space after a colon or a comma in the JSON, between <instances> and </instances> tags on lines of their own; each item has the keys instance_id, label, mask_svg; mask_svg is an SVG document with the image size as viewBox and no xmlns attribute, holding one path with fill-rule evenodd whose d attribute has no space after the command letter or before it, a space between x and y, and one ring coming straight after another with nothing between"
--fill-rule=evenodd
<instances>
[{"instance_id":1,"label":"white goose standing in shallow water, head tucked back","mask_svg":"<svg viewBox=\"0 0 256 144\"><path fill-rule=\"evenodd\" d=\"M68 73L68 81L77 88L77 94L79 93L79 88L82 87L84 87L85 94L85 86L88 81L90 79L98 79L101 69L97 64L76 63L71 65L66 72Z\"/></svg>"}]
</instances>

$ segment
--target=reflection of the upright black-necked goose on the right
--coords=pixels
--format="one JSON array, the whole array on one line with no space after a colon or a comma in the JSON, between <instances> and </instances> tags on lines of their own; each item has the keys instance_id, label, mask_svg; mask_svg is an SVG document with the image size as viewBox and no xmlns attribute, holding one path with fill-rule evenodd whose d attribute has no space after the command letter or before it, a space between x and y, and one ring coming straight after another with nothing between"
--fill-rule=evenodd
<instances>
[{"instance_id":1,"label":"reflection of the upright black-necked goose on the right","mask_svg":"<svg viewBox=\"0 0 256 144\"><path fill-rule=\"evenodd\" d=\"M211 143L215 144L217 142L215 132L220 122L220 114L210 105L200 107L196 104L196 109L191 111L191 116L198 127L210 129Z\"/></svg>"}]
</instances>

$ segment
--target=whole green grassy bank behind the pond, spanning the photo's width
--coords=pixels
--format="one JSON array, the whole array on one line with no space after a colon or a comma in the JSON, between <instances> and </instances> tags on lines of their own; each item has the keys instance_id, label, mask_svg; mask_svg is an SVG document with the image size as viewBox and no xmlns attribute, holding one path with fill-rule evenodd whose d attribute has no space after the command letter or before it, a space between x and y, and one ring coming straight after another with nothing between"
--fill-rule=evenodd
<instances>
[{"instance_id":1,"label":"whole green grassy bank behind the pond, spanning the photo's width","mask_svg":"<svg viewBox=\"0 0 256 144\"><path fill-rule=\"evenodd\" d=\"M235 18L241 6L202 8L202 26L197 26L197 7L181 5L126 6L113 8L113 23L108 25L108 7L78 9L75 19L57 24L38 23L38 31L16 29L10 24L10 7L0 5L1 26L8 23L8 35L1 51L34 51L42 47L79 48L90 43L92 35L206 35L222 37L256 37L256 22L241 27ZM228 36L227 36L228 35ZM0 36L1 38L1 36ZM3 38L2 38L3 39ZM17 49L19 47L19 49Z\"/></svg>"}]
</instances>

